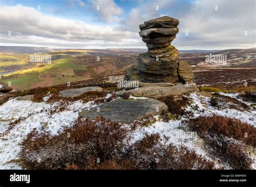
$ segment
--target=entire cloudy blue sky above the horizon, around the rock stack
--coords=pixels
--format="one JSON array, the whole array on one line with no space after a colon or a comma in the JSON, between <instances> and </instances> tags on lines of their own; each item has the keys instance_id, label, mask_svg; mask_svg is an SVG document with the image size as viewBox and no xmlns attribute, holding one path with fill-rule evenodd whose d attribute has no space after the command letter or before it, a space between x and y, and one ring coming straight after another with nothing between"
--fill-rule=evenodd
<instances>
[{"instance_id":1,"label":"entire cloudy blue sky above the horizon, around the rock stack","mask_svg":"<svg viewBox=\"0 0 256 187\"><path fill-rule=\"evenodd\" d=\"M0 45L146 48L139 24L179 20L178 49L256 47L255 0L0 0Z\"/></svg>"}]
</instances>

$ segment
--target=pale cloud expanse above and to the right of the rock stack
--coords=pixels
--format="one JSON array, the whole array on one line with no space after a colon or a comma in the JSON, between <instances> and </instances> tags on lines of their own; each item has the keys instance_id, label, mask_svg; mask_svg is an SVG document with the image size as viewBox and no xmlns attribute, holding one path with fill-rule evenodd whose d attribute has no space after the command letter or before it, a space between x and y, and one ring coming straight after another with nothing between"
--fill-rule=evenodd
<instances>
[{"instance_id":1,"label":"pale cloud expanse above and to the right of the rock stack","mask_svg":"<svg viewBox=\"0 0 256 187\"><path fill-rule=\"evenodd\" d=\"M138 32L138 25L144 21L170 16L180 21L179 33L172 42L179 49L256 47L255 3L254 0L143 1L121 21L119 29Z\"/></svg>"}]
</instances>

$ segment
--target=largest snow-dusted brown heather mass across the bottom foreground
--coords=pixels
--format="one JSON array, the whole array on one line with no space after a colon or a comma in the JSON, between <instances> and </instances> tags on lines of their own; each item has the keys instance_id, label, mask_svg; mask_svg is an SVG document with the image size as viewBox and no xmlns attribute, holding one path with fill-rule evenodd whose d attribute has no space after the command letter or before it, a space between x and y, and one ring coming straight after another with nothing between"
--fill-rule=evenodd
<instances>
[{"instance_id":1,"label":"largest snow-dusted brown heather mass across the bottom foreground","mask_svg":"<svg viewBox=\"0 0 256 187\"><path fill-rule=\"evenodd\" d=\"M214 169L213 162L193 150L163 145L159 134L146 134L132 145L127 143L129 137L120 124L103 117L78 119L57 136L34 130L23 142L21 165L27 169Z\"/></svg>"}]
</instances>

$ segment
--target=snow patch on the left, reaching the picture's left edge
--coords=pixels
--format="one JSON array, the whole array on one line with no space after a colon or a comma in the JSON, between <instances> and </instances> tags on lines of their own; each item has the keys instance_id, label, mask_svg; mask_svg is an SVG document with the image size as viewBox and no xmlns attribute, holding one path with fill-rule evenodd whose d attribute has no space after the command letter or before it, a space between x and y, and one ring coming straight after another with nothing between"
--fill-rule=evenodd
<instances>
[{"instance_id":1,"label":"snow patch on the left, reaching the picture's left edge","mask_svg":"<svg viewBox=\"0 0 256 187\"><path fill-rule=\"evenodd\" d=\"M108 94L105 98L111 97ZM46 101L48 98L44 98ZM64 111L58 111L59 107L65 105ZM45 102L33 103L30 100L11 99L0 106L0 135L8 130L9 123L19 118L24 118L16 124L4 138L0 139L0 169L22 169L16 163L8 163L18 159L21 151L20 143L26 138L33 128L37 131L49 131L56 135L63 127L72 126L78 113L89 109L96 104L92 102L83 103L80 100L73 103L59 102L48 104ZM57 110L56 110L57 109ZM51 112L56 111L56 112ZM1 136L3 137L3 136Z\"/></svg>"}]
</instances>

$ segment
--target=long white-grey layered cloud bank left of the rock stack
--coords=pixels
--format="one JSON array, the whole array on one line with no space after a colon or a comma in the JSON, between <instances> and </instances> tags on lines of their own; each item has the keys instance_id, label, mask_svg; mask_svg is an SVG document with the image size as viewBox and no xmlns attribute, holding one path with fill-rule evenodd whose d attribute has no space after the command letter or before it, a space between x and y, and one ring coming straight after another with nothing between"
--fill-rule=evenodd
<instances>
[{"instance_id":1,"label":"long white-grey layered cloud bank left of the rock stack","mask_svg":"<svg viewBox=\"0 0 256 187\"><path fill-rule=\"evenodd\" d=\"M114 30L111 26L43 15L23 5L2 6L0 21L2 43L71 48L141 45L139 38L131 38L125 31ZM8 35L9 31L11 35Z\"/></svg>"}]
</instances>

